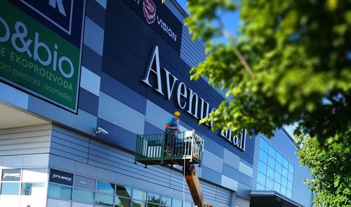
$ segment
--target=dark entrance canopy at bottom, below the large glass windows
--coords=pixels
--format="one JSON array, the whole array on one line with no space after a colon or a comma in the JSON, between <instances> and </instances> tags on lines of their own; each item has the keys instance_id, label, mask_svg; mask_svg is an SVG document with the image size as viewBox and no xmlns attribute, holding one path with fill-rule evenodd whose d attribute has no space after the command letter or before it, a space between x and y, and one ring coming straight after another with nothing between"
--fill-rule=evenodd
<instances>
[{"instance_id":1,"label":"dark entrance canopy at bottom, below the large glass windows","mask_svg":"<svg viewBox=\"0 0 351 207\"><path fill-rule=\"evenodd\" d=\"M251 190L250 207L303 207L275 191Z\"/></svg>"}]
</instances>

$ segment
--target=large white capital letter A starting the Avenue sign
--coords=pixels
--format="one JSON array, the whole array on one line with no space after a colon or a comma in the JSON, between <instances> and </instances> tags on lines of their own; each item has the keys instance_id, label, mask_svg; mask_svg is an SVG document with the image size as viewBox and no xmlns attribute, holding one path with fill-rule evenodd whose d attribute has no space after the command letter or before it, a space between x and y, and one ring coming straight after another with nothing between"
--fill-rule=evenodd
<instances>
[{"instance_id":1,"label":"large white capital letter A starting the Avenue sign","mask_svg":"<svg viewBox=\"0 0 351 207\"><path fill-rule=\"evenodd\" d=\"M156 70L154 70L154 68L152 68L153 65L156 67ZM147 66L147 72L146 72L145 77L143 79L145 84L147 84L148 86L152 86L149 82L150 72L157 74L157 88L155 90L157 92L161 93L162 95L164 95L164 93L162 93L162 85L161 85L161 69L159 67L159 47L158 46L156 46L154 48L154 51L152 52L152 56L150 58L148 66Z\"/></svg>"}]
</instances>

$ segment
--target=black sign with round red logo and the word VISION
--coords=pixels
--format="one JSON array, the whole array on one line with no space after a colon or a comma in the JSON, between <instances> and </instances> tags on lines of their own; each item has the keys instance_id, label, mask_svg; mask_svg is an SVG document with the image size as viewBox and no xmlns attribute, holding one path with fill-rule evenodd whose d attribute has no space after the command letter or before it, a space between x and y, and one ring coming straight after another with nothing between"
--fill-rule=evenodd
<instances>
[{"instance_id":1,"label":"black sign with round red logo and the word VISION","mask_svg":"<svg viewBox=\"0 0 351 207\"><path fill-rule=\"evenodd\" d=\"M122 0L122 2L180 55L183 24L166 5L160 0Z\"/></svg>"}]
</instances>

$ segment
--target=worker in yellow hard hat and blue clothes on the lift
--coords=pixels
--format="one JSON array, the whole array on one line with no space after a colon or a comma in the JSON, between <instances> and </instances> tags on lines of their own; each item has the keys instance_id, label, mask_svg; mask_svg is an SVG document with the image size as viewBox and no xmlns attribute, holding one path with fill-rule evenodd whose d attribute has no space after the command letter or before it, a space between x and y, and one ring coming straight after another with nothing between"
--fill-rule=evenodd
<instances>
[{"instance_id":1,"label":"worker in yellow hard hat and blue clothes on the lift","mask_svg":"<svg viewBox=\"0 0 351 207\"><path fill-rule=\"evenodd\" d=\"M174 152L174 147L176 147L176 132L179 132L178 129L178 119L180 117L180 112L174 112L173 117L169 118L166 123L166 128L164 129L165 142L166 142L166 156L171 156Z\"/></svg>"}]
</instances>

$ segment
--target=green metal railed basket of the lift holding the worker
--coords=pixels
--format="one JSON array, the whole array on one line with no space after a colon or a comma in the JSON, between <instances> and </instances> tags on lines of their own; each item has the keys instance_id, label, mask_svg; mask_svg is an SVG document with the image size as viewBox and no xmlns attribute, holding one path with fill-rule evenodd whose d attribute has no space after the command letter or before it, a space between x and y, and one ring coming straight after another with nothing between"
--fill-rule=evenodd
<instances>
[{"instance_id":1,"label":"green metal railed basket of the lift holding the worker","mask_svg":"<svg viewBox=\"0 0 351 207\"><path fill-rule=\"evenodd\" d=\"M204 138L197 131L137 135L135 161L150 164L187 162L201 164Z\"/></svg>"}]
</instances>

